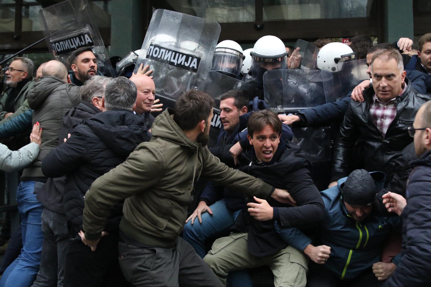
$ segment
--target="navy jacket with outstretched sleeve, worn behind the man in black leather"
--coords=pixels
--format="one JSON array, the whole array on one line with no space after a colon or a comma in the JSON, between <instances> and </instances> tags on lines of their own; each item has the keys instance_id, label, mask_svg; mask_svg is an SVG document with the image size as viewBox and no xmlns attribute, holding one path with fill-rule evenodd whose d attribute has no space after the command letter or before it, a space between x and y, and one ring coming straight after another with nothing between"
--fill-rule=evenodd
<instances>
[{"instance_id":1,"label":"navy jacket with outstretched sleeve, worn behind the man in black leather","mask_svg":"<svg viewBox=\"0 0 431 287\"><path fill-rule=\"evenodd\" d=\"M406 71L406 83L412 86L416 92L420 94L425 94L427 88L425 86L425 76L419 71ZM314 108L307 108L300 111L296 115L300 117L302 123L306 127L312 126L326 126L332 122L341 122L344 118L344 114L347 111L350 103L349 93L346 97L338 100L337 102L326 103L324 105L319 105Z\"/></svg>"}]
</instances>

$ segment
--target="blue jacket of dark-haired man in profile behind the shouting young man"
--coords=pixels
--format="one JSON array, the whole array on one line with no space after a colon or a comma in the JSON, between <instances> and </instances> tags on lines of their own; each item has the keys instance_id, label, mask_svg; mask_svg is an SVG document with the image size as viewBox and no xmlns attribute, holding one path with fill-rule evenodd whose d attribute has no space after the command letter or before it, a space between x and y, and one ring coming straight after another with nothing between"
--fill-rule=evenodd
<instances>
[{"instance_id":1,"label":"blue jacket of dark-haired man in profile behind the shouting young man","mask_svg":"<svg viewBox=\"0 0 431 287\"><path fill-rule=\"evenodd\" d=\"M214 148L217 148L222 145L230 145L240 142L241 147L245 150L250 144L247 139L247 123L250 115L254 111L264 110L266 109L265 102L259 100L258 97L255 97L253 101L249 104L249 112L240 116L240 121L238 126L235 128L234 132L229 134L225 130L221 130L219 133L219 137L217 138L217 143ZM282 138L288 139L289 141L293 138L292 130L290 127L283 124ZM210 150L212 148L209 148ZM215 186L212 182L208 182L206 187L203 189L202 194L200 196L200 201L205 201L209 206L214 204L216 201L221 200L222 198L226 199L226 207L229 210L238 210L245 207L244 194L236 191L228 190L227 188L223 188L222 186Z\"/></svg>"}]
</instances>

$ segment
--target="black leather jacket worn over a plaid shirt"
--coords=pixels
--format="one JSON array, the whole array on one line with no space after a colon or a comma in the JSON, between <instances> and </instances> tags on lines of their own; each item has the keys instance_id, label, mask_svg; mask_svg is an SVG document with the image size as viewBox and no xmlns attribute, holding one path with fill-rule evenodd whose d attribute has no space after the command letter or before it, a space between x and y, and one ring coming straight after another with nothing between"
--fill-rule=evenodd
<instances>
[{"instance_id":1,"label":"black leather jacket worn over a plaid shirt","mask_svg":"<svg viewBox=\"0 0 431 287\"><path fill-rule=\"evenodd\" d=\"M374 89L369 87L364 90L364 102L350 102L334 144L331 181L348 176L354 169L363 168L369 172L384 172L386 183L390 182L395 174L396 158L413 141L407 128L413 124L422 104L431 99L407 85L404 93L395 100L397 115L383 136L369 114L373 95Z\"/></svg>"}]
</instances>

